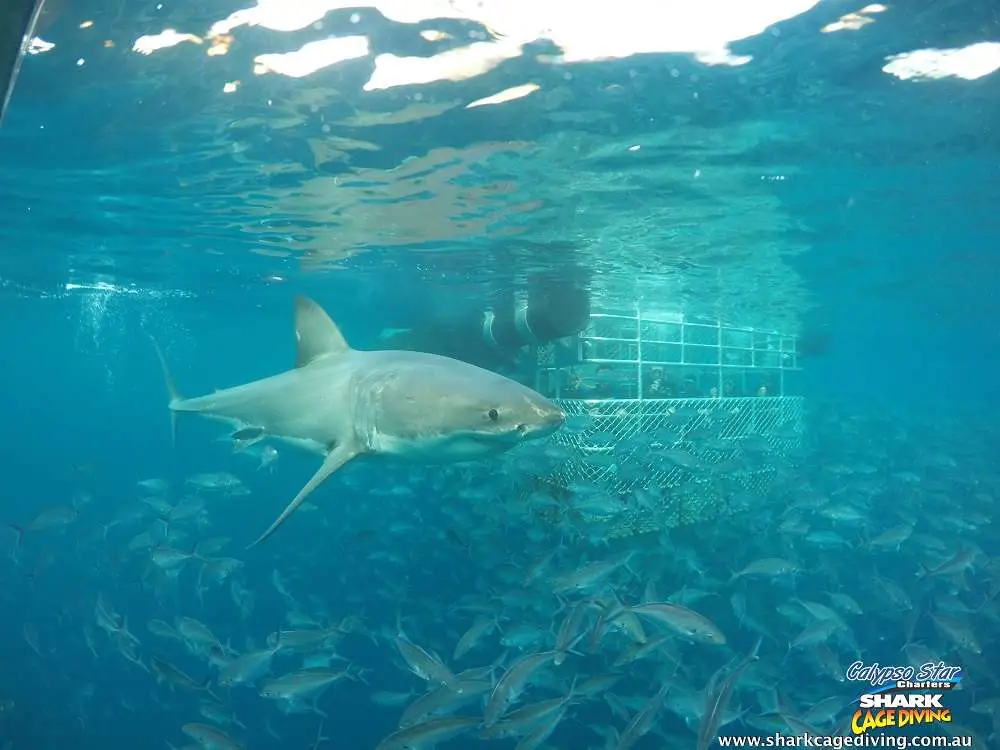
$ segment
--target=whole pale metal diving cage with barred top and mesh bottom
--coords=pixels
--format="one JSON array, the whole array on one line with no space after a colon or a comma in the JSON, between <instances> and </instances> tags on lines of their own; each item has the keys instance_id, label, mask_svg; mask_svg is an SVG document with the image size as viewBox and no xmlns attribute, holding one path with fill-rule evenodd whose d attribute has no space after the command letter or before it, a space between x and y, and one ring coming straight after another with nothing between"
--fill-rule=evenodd
<instances>
[{"instance_id":1,"label":"whole pale metal diving cage with barred top and mesh bottom","mask_svg":"<svg viewBox=\"0 0 1000 750\"><path fill-rule=\"evenodd\" d=\"M621 512L578 514L607 523L608 537L746 510L800 446L794 335L678 313L594 312L582 333L536 355L535 388L569 419L556 438L565 460L532 490L565 513L577 513L581 488L617 495Z\"/></svg>"}]
</instances>

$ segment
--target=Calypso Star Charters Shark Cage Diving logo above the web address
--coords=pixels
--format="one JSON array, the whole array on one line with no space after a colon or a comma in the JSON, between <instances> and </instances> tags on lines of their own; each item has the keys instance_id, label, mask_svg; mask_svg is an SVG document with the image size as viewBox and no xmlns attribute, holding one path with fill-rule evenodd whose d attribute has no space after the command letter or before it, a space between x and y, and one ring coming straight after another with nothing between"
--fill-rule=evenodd
<instances>
[{"instance_id":1,"label":"Calypso Star Charters Shark Cage Diving logo above the web address","mask_svg":"<svg viewBox=\"0 0 1000 750\"><path fill-rule=\"evenodd\" d=\"M961 682L962 668L944 662L902 667L856 661L846 676L874 688L860 695L851 717L851 731L860 735L873 729L950 723L951 709L943 700Z\"/></svg>"}]
</instances>

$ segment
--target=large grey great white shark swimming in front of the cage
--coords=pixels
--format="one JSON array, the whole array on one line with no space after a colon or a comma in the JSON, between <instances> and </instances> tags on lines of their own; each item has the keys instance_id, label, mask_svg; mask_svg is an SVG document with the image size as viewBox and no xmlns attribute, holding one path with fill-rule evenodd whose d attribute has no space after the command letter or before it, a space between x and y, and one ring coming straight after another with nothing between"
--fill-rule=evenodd
<instances>
[{"instance_id":1,"label":"large grey great white shark swimming in front of the cage","mask_svg":"<svg viewBox=\"0 0 1000 750\"><path fill-rule=\"evenodd\" d=\"M494 456L558 430L566 413L530 388L449 357L352 349L316 302L295 298L295 368L221 391L183 398L159 346L177 415L229 423L234 435L274 438L323 457L281 515L250 547L271 536L331 474L359 456L424 463ZM155 343L155 342L154 342Z\"/></svg>"}]
</instances>

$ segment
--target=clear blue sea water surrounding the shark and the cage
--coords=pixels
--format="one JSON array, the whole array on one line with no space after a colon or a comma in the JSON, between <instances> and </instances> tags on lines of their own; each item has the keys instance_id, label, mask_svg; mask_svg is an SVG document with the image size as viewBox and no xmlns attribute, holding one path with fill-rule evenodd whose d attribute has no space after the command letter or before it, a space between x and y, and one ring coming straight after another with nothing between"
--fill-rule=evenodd
<instances>
[{"instance_id":1,"label":"clear blue sea water surrounding the shark and the cage","mask_svg":"<svg viewBox=\"0 0 1000 750\"><path fill-rule=\"evenodd\" d=\"M290 612L317 625L363 618L365 632L345 635L337 652L368 683L341 681L319 699L331 738L321 746L375 747L402 707L376 705L372 694L425 689L397 656L397 616L450 661L473 619L459 605L510 590L504 571L523 570L560 541L569 546L556 558L562 572L643 550L635 577L615 574L626 604L650 580L661 598L712 591L703 613L727 646L678 646L690 651L670 678L677 692L700 693L757 637L734 616L729 575L755 558L798 562L791 581L747 584L765 637L758 676L733 700L742 713L723 734L767 734L751 719L768 713L768 680L795 703L856 696L800 652L786 656L802 623L775 611L841 591L866 609L850 624L856 650L830 641L844 666L899 661L904 645L920 642L967 668L972 690L954 701L954 723L980 742L991 737L986 709L970 708L1000 690L992 666L1000 537L989 523L1000 494L1000 73L914 81L882 67L890 55L1000 41L1000 21L989 2L910 3L870 13L858 30L823 33L861 4L801 5L734 39L731 53L753 58L738 66L707 65L695 50L558 64L546 60L559 53L556 42L530 38L523 54L483 75L366 91L373 55L301 78L255 75L254 57L346 35L367 36L373 54L428 57L485 38L488 24L470 11L410 25L362 4L320 14L321 28L242 26L228 54L208 56L206 30L240 3L53 3L37 33L55 47L26 60L0 129L0 521L25 526L67 506L78 517L29 529L19 545L13 531L0 532L0 549L10 549L0 559L0 748L185 747L182 725L211 723L199 717L201 695L157 684L149 660L166 659L198 682L218 666L147 623L197 618L242 653L248 638L261 648L269 633L292 628ZM622 12L609 5L609 27L627 25ZM678 21L650 11L634 23ZM130 51L164 28L204 38L149 56ZM420 30L449 36L428 40ZM464 108L526 82L540 89ZM388 331L410 328L443 347L436 331L497 295L567 276L595 305L641 300L801 337L802 372L788 395L806 404L803 447L782 460L765 505L666 537L593 546L536 536L537 516L497 510L516 484L508 463L470 470L485 472L478 479L453 467L374 464L329 480L316 509L245 551L316 458L281 447L273 466L257 470L256 458L218 440L224 429L194 418L171 442L151 336L184 395L200 395L292 366L297 294L319 301L358 348L384 348ZM831 474L835 464L855 468ZM878 489L869 493L871 466ZM161 528L155 511L107 527L141 504L142 480L167 480L177 502L191 494L186 479L220 471L249 494L211 496L203 522L179 523L181 533L158 544L197 552L205 539L230 538L221 554L243 563L232 580L256 597L245 617L229 581L199 600L198 561L170 582L149 549L128 549L137 534ZM411 494L389 494L400 486ZM485 497L470 495L484 487ZM776 531L789 508L816 494L864 512L858 522L808 511L813 528L845 547ZM941 546L922 537L898 550L865 547L905 519ZM359 541L362 532L371 533ZM970 547L957 575L914 575ZM699 565L678 562L682 549L697 550ZM275 570L294 606L273 585ZM902 586L912 607L879 610L883 580ZM565 612L544 586L535 594L537 609L503 608L505 627L531 621L554 638ZM99 598L127 618L143 667L98 627ZM931 615L942 613L960 617L981 653L935 626ZM38 652L26 633L37 634ZM553 678L562 684L530 699L564 694L573 675L608 671L619 646L570 659L572 671ZM502 652L493 643L461 668ZM300 665L279 654L274 674ZM627 698L627 714L656 693L664 670L637 667L612 691ZM226 731L250 750L313 746L316 714L284 715L252 688L216 692L246 725ZM594 727L621 732L627 723L614 702L571 708L547 746L605 747ZM686 722L675 708L657 721L661 734L636 747L695 747L697 717ZM470 737L443 746L480 743Z\"/></svg>"}]
</instances>

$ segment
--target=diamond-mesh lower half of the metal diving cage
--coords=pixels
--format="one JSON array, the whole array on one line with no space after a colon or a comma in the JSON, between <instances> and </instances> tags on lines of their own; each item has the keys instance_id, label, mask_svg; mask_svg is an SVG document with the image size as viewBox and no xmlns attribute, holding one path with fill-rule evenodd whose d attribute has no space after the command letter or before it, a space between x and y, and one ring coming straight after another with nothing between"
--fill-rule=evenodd
<instances>
[{"instance_id":1,"label":"diamond-mesh lower half of the metal diving cage","mask_svg":"<svg viewBox=\"0 0 1000 750\"><path fill-rule=\"evenodd\" d=\"M652 490L650 505L628 503L622 513L572 511L607 523L612 538L734 515L746 507L734 488L763 495L801 444L800 397L558 403L569 419L555 439L570 450L544 479L553 496L568 498L581 483L622 497Z\"/></svg>"}]
</instances>

